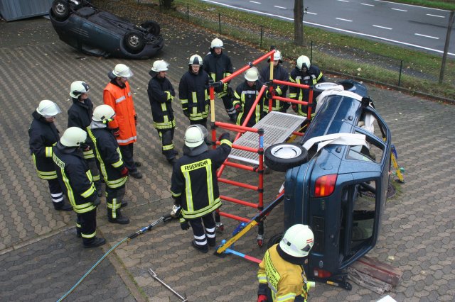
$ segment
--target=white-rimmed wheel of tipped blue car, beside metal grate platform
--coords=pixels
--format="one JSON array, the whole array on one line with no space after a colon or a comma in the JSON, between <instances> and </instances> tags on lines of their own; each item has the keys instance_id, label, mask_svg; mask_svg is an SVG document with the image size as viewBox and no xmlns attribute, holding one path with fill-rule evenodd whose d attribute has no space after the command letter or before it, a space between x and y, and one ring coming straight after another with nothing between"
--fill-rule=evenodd
<instances>
[{"instance_id":1,"label":"white-rimmed wheel of tipped blue car, beside metal grate platform","mask_svg":"<svg viewBox=\"0 0 455 302\"><path fill-rule=\"evenodd\" d=\"M286 172L307 161L308 151L301 145L281 143L268 147L264 152L265 164L274 171Z\"/></svg>"}]
</instances>

